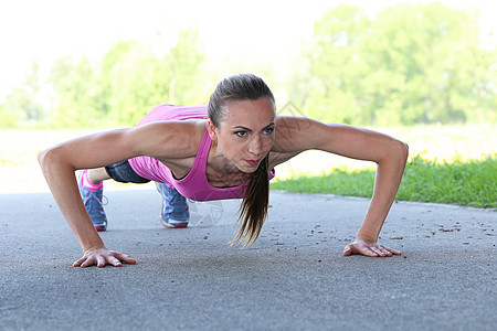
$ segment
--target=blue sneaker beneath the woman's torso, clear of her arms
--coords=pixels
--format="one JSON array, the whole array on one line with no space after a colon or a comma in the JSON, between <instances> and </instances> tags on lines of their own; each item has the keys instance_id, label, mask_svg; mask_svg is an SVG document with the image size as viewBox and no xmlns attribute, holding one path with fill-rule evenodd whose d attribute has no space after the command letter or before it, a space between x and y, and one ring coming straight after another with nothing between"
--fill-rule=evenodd
<instances>
[{"instance_id":1,"label":"blue sneaker beneath the woman's torso, clear of her arms","mask_svg":"<svg viewBox=\"0 0 497 331\"><path fill-rule=\"evenodd\" d=\"M187 199L166 183L156 182L157 191L162 195L160 221L169 228L187 227L190 220Z\"/></svg>"}]
</instances>

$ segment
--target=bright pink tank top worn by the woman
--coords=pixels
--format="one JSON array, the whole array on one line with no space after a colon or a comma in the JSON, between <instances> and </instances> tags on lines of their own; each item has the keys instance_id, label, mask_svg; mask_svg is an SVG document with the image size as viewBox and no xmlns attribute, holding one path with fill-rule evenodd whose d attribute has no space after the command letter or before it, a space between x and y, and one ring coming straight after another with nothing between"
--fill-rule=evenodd
<instances>
[{"instance_id":1,"label":"bright pink tank top worn by the woman","mask_svg":"<svg viewBox=\"0 0 497 331\"><path fill-rule=\"evenodd\" d=\"M161 105L154 108L145 116L137 126L146 122L159 120L186 120L186 119L207 119L207 104L197 106L173 106ZM168 183L171 188L178 190L181 195L194 201L211 201L224 199L242 199L245 192L245 184L234 188L212 186L205 174L209 150L211 148L211 137L205 130L200 141L193 167L186 177L180 180L175 179L171 170L162 162L150 157L137 157L129 159L129 166L136 173L156 182ZM274 170L269 178L274 178Z\"/></svg>"}]
</instances>

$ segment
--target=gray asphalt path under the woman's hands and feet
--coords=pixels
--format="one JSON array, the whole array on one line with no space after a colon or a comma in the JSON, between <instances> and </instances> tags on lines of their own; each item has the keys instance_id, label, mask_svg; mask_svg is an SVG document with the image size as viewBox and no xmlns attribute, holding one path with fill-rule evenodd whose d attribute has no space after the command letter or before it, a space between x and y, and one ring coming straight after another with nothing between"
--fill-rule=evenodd
<instances>
[{"instance_id":1,"label":"gray asphalt path under the woman's hands and feet","mask_svg":"<svg viewBox=\"0 0 497 331\"><path fill-rule=\"evenodd\" d=\"M49 193L0 195L1 330L495 330L497 213L395 203L381 242L342 257L368 201L272 192L251 247L226 244L237 201L159 223L151 190L106 192L107 247L137 265L74 268L81 248ZM204 215L204 216L200 216ZM209 216L205 216L209 215Z\"/></svg>"}]
</instances>

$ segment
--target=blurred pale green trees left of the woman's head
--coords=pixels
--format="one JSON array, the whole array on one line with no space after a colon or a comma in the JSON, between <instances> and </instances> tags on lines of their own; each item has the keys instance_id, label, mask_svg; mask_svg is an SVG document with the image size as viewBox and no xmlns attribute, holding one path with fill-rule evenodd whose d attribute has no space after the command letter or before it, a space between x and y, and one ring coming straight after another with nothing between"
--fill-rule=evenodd
<instances>
[{"instance_id":1,"label":"blurred pale green trees left of the woman's head","mask_svg":"<svg viewBox=\"0 0 497 331\"><path fill-rule=\"evenodd\" d=\"M64 56L53 64L47 82L51 111L39 102L39 67L33 65L22 87L12 87L0 108L0 126L11 128L21 119L56 128L135 126L159 104L205 100L199 79L203 63L197 31L180 32L162 56L134 41L116 43L95 62Z\"/></svg>"}]
</instances>

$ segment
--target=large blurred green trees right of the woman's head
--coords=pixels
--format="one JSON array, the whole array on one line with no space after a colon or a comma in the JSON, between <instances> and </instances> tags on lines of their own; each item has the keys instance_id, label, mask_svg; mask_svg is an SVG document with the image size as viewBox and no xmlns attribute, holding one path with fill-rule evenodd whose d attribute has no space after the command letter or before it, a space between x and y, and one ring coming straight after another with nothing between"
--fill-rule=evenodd
<instances>
[{"instance_id":1,"label":"large blurred green trees right of the woman's head","mask_svg":"<svg viewBox=\"0 0 497 331\"><path fill-rule=\"evenodd\" d=\"M371 21L352 6L315 24L308 115L396 126L495 122L497 52L478 45L468 13L441 3L400 4Z\"/></svg>"}]
</instances>

